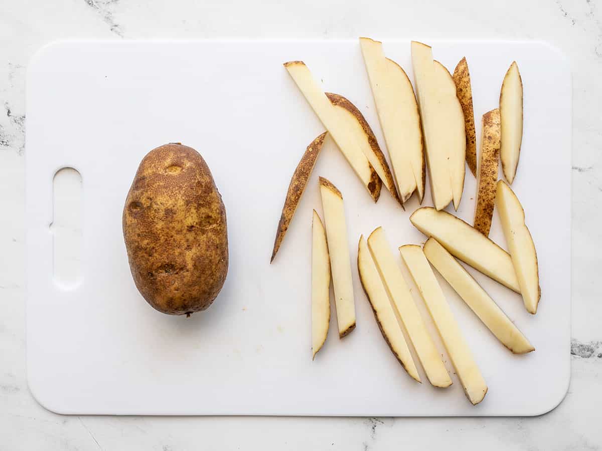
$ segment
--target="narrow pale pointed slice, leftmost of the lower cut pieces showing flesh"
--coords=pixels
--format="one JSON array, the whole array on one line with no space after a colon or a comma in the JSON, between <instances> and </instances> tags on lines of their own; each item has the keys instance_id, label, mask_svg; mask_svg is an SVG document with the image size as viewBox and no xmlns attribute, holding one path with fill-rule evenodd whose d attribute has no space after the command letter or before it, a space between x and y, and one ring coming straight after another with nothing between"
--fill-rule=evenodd
<instances>
[{"instance_id":1,"label":"narrow pale pointed slice, leftmost of the lower cut pieces showing flesh","mask_svg":"<svg viewBox=\"0 0 602 451\"><path fill-rule=\"evenodd\" d=\"M330 324L330 257L324 225L315 210L311 230L311 351L314 360L326 342Z\"/></svg>"}]
</instances>

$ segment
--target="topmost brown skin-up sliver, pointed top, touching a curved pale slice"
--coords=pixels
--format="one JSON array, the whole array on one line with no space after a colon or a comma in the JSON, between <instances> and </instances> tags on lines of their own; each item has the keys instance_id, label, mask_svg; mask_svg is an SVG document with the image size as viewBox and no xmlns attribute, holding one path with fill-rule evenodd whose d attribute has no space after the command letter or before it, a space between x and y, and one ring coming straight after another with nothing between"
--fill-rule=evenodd
<instances>
[{"instance_id":1,"label":"topmost brown skin-up sliver, pointed top, touching a curved pale slice","mask_svg":"<svg viewBox=\"0 0 602 451\"><path fill-rule=\"evenodd\" d=\"M477 176L477 136L474 129L473 90L470 85L470 72L466 57L462 58L453 71L456 95L464 112L466 129L466 162L473 176Z\"/></svg>"}]
</instances>

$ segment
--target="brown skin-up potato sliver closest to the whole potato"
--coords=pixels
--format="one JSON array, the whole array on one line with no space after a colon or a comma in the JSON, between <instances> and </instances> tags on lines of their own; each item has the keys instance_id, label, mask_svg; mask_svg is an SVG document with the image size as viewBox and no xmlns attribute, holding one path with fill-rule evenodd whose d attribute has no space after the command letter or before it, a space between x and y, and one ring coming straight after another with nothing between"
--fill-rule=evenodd
<instances>
[{"instance_id":1,"label":"brown skin-up potato sliver closest to the whole potato","mask_svg":"<svg viewBox=\"0 0 602 451\"><path fill-rule=\"evenodd\" d=\"M284 235L287 233L288 226L293 220L293 215L297 209L297 204L299 204L299 200L303 195L303 191L305 191L305 186L307 185L309 176L311 176L311 171L314 170L315 162L318 159L318 155L320 155L320 150L322 150L322 144L324 144L324 137L326 137L326 133L327 132L322 133L320 136L315 138L315 140L312 141L309 146L307 146L301 161L299 161L299 164L293 173L291 183L288 185L287 198L285 199L284 206L282 207L282 215L280 216L280 221L278 222L278 229L276 230L276 239L274 241L274 248L272 250L272 258L270 259L270 263L274 261L274 257L276 257L276 253L282 244Z\"/></svg>"}]
</instances>

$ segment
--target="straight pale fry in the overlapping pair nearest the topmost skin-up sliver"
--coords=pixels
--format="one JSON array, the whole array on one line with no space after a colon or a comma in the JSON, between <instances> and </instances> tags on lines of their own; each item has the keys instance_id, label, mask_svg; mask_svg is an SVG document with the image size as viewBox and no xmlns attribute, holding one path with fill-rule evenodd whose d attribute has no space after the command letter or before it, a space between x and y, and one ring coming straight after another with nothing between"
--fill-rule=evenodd
<instances>
[{"instance_id":1,"label":"straight pale fry in the overlapping pair nearest the topmost skin-up sliver","mask_svg":"<svg viewBox=\"0 0 602 451\"><path fill-rule=\"evenodd\" d=\"M452 179L447 162L448 130L444 118L439 113L439 89L435 77L433 51L426 44L417 41L412 41L411 45L430 191L435 208L441 210L453 200Z\"/></svg>"}]
</instances>

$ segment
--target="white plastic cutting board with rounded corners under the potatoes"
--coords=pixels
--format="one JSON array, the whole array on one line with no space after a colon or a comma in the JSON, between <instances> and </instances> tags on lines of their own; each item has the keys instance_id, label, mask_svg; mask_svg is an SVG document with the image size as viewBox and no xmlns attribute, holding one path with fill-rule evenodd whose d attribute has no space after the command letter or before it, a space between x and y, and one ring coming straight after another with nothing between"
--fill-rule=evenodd
<instances>
[{"instance_id":1,"label":"white plastic cutting board with rounded corners under the potatoes","mask_svg":"<svg viewBox=\"0 0 602 451\"><path fill-rule=\"evenodd\" d=\"M358 239L382 225L392 248L424 241L408 220L417 201L404 212L383 188L374 204L330 138L268 264L290 176L323 131L282 63L305 61L325 90L361 109L384 146L356 40L72 41L34 57L26 224L28 377L36 399L68 414L526 416L555 407L569 382L568 62L542 43L425 41L450 71L467 57L477 136L513 60L524 83L523 152L512 188L538 250L538 313L531 316L519 295L470 272L536 351L510 354L439 279L489 385L480 405L465 399L436 334L454 382L444 390L431 387L421 369L423 384L409 378L380 336L358 281ZM413 79L409 40L385 40L385 52ZM228 279L212 307L188 319L158 313L141 298L122 238L122 207L138 163L170 141L203 155L228 215ZM61 167L76 168L83 180L82 282L75 289L61 289L52 276L52 177ZM318 176L343 192L358 326L339 340L333 311L326 345L312 361ZM468 221L474 192L467 169L459 215ZM497 213L491 238L505 247Z\"/></svg>"}]
</instances>

